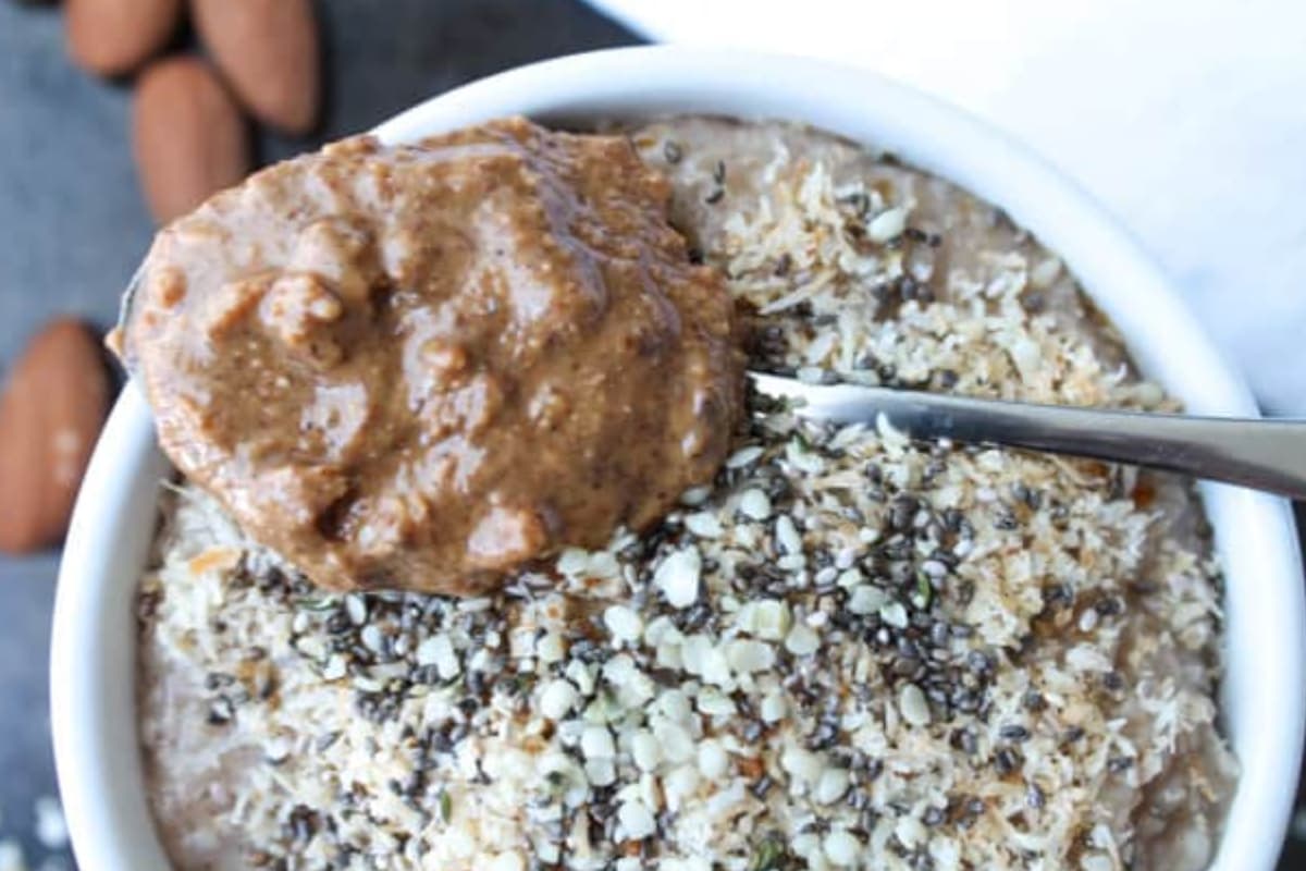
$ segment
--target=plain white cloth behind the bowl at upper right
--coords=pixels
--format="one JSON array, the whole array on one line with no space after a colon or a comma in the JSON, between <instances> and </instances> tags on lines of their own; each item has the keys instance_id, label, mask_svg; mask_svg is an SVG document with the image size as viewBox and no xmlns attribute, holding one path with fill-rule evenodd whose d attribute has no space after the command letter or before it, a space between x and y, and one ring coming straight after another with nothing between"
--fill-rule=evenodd
<instances>
[{"instance_id":1,"label":"plain white cloth behind the bowl at upper right","mask_svg":"<svg viewBox=\"0 0 1306 871\"><path fill-rule=\"evenodd\" d=\"M1306 415L1306 4L592 3L658 40L862 64L1017 136L1141 239L1266 407Z\"/></svg>"}]
</instances>

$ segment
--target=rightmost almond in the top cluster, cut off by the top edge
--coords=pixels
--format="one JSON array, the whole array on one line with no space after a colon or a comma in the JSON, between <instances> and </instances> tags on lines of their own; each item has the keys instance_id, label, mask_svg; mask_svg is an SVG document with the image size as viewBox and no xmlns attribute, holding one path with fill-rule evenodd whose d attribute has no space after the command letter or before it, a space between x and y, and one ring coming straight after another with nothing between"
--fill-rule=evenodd
<instances>
[{"instance_id":1,"label":"rightmost almond in the top cluster, cut off by the top edge","mask_svg":"<svg viewBox=\"0 0 1306 871\"><path fill-rule=\"evenodd\" d=\"M320 102L311 0L191 0L205 47L255 118L307 133Z\"/></svg>"}]
</instances>

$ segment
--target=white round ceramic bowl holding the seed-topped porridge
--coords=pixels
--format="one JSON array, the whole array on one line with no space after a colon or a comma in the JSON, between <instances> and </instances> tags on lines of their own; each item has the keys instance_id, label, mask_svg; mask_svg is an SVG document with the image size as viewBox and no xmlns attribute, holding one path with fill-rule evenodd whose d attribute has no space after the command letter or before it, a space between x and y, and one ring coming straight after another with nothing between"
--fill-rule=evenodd
<instances>
[{"instance_id":1,"label":"white round ceramic bowl holding the seed-topped porridge","mask_svg":"<svg viewBox=\"0 0 1306 871\"><path fill-rule=\"evenodd\" d=\"M956 108L876 76L808 60L623 48L534 64L438 97L387 121L400 142L525 114L584 123L667 112L806 121L874 142L1003 206L1059 252L1115 321L1135 358L1195 413L1255 414L1152 261L1083 192ZM153 871L166 861L142 786L133 701L132 599L166 469L149 410L124 390L82 484L55 605L55 756L82 867ZM1273 867L1306 717L1302 572L1280 499L1204 488L1228 578L1224 723L1242 765L1215 867Z\"/></svg>"}]
</instances>

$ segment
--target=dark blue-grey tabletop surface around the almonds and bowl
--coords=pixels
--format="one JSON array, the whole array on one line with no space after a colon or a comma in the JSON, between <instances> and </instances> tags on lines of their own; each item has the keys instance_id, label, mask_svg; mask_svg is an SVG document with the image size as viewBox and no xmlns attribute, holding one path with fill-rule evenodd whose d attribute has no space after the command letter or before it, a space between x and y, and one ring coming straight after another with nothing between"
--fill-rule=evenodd
<instances>
[{"instance_id":1,"label":"dark blue-grey tabletop surface around the almonds and bowl","mask_svg":"<svg viewBox=\"0 0 1306 871\"><path fill-rule=\"evenodd\" d=\"M324 0L328 102L319 135L259 133L260 161L367 129L453 85L637 39L572 0ZM180 34L178 48L189 44ZM0 0L0 372L48 317L99 325L150 240L129 150L129 93L64 54L57 7ZM0 482L0 499L4 482ZM1298 509L1298 524L1306 521ZM33 802L55 793L46 657L57 556L0 558L0 838L34 868ZM1306 688L1303 688L1306 691ZM88 727L94 727L88 723ZM1293 841L1282 868L1306 867ZM93 868L90 871L94 871Z\"/></svg>"}]
</instances>

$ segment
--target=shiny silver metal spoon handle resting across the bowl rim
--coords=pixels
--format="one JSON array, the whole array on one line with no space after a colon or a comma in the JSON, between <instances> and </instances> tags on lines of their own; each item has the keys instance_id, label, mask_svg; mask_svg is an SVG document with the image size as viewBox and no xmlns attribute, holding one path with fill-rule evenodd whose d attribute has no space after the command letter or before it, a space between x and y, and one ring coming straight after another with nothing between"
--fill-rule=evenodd
<instances>
[{"instance_id":1,"label":"shiny silver metal spoon handle resting across the bowl rim","mask_svg":"<svg viewBox=\"0 0 1306 871\"><path fill-rule=\"evenodd\" d=\"M818 387L748 373L767 396L799 400L802 417L837 423L888 420L917 437L994 443L1166 469L1306 499L1306 420L1199 418L837 384Z\"/></svg>"}]
</instances>

